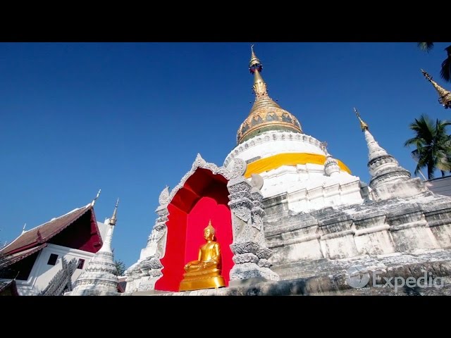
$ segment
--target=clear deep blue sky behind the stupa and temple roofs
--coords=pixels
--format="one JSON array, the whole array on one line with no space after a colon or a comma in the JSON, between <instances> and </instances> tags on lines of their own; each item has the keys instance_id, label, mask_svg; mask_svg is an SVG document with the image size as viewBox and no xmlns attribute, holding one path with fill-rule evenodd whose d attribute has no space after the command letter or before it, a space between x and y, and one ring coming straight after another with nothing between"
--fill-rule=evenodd
<instances>
[{"instance_id":1,"label":"clear deep blue sky behind the stupa and temple roofs","mask_svg":"<svg viewBox=\"0 0 451 338\"><path fill-rule=\"evenodd\" d=\"M130 266L154 225L158 197L197 153L222 165L254 94L252 42L0 43L0 241L101 195L104 221L116 199L115 258ZM413 173L409 123L445 120L420 68L440 79L451 43L257 42L269 95L305 134L328 143L369 182L368 151L352 107L378 143ZM437 173L437 176L439 174Z\"/></svg>"}]
</instances>

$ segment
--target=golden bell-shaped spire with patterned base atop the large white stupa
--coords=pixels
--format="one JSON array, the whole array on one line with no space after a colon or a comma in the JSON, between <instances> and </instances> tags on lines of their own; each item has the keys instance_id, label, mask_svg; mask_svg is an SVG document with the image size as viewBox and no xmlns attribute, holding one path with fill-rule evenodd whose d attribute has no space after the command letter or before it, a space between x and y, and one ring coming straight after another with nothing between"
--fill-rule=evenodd
<instances>
[{"instance_id":1,"label":"golden bell-shaped spire with patterned base atop the large white stupa","mask_svg":"<svg viewBox=\"0 0 451 338\"><path fill-rule=\"evenodd\" d=\"M254 106L252 106L246 120L240 125L237 132L237 143L245 142L257 136L261 132L268 130L283 130L289 132L302 133L301 125L294 115L285 111L268 95L266 82L261 77L263 65L254 52L254 45L251 46L251 60L249 61L249 71L254 74L254 85L252 89L255 94Z\"/></svg>"}]
</instances>

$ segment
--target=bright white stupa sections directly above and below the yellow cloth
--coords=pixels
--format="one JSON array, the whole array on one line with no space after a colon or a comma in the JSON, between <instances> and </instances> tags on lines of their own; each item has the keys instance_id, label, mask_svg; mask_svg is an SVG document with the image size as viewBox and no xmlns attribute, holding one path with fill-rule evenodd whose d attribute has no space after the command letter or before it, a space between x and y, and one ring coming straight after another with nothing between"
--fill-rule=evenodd
<instances>
[{"instance_id":1,"label":"bright white stupa sections directly above and below the yellow cloth","mask_svg":"<svg viewBox=\"0 0 451 338\"><path fill-rule=\"evenodd\" d=\"M239 144L228 154L225 165L233 158L247 161L252 158L266 158L285 153L326 153L321 150L321 142L306 134L272 131ZM283 165L260 173L264 179L261 193L264 198L288 193L291 211L307 212L327 206L361 204L360 179L341 170L333 176L324 173L324 165L299 164Z\"/></svg>"}]
</instances>

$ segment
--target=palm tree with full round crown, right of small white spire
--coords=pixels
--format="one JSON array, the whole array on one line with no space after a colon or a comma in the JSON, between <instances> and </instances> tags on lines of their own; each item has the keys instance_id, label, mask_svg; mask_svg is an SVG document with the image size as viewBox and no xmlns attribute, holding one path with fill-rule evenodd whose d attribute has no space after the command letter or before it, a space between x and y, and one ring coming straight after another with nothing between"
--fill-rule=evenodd
<instances>
[{"instance_id":1,"label":"palm tree with full round crown, right of small white spire","mask_svg":"<svg viewBox=\"0 0 451 338\"><path fill-rule=\"evenodd\" d=\"M442 177L445 171L451 170L451 137L446 132L447 125L451 125L451 122L438 119L434 124L426 114L409 125L415 137L408 139L404 146L416 146L412 151L412 157L417 163L415 175L426 167L428 180L431 180L436 169L440 170Z\"/></svg>"}]
</instances>

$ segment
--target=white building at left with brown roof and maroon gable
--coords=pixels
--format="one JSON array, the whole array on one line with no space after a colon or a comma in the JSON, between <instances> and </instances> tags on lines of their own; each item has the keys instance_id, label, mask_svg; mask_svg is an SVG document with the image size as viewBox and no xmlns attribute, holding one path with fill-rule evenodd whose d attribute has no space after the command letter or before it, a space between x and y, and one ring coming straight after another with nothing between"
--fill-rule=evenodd
<instances>
[{"instance_id":1,"label":"white building at left with brown roof and maroon gable","mask_svg":"<svg viewBox=\"0 0 451 338\"><path fill-rule=\"evenodd\" d=\"M111 220L96 220L98 197L33 229L24 226L0 250L0 294L56 296L72 291L78 277L91 268L94 254L111 242Z\"/></svg>"}]
</instances>

